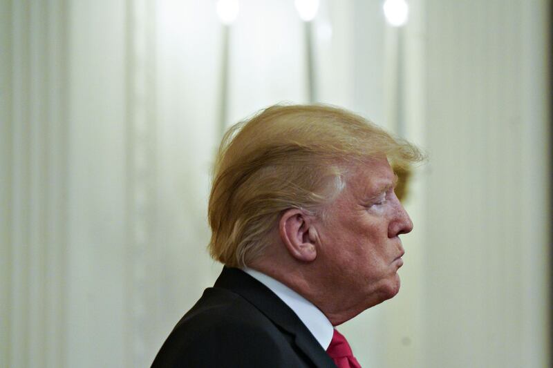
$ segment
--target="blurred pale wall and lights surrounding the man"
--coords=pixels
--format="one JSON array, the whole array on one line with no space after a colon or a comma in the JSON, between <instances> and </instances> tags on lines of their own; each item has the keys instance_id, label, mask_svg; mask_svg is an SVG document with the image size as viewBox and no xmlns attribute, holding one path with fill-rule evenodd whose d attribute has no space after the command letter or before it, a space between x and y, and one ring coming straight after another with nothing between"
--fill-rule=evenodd
<instances>
[{"instance_id":1,"label":"blurred pale wall and lights surrounding the man","mask_svg":"<svg viewBox=\"0 0 553 368\"><path fill-rule=\"evenodd\" d=\"M550 367L549 14L1 0L0 367L149 366L221 270L221 134L281 101L348 108L429 154L400 294L339 327L364 367Z\"/></svg>"}]
</instances>

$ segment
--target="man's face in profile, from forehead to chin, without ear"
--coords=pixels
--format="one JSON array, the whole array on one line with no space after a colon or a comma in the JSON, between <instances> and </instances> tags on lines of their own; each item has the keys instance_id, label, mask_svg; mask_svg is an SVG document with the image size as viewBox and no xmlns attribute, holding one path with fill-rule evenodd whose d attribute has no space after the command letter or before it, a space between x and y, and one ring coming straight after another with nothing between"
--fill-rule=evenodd
<instances>
[{"instance_id":1,"label":"man's face in profile, from forehead to chin, without ear","mask_svg":"<svg viewBox=\"0 0 553 368\"><path fill-rule=\"evenodd\" d=\"M394 193L395 183L385 158L358 166L320 221L317 258L326 264L326 283L344 308L364 310L400 289L399 235L409 233L413 223Z\"/></svg>"}]
</instances>

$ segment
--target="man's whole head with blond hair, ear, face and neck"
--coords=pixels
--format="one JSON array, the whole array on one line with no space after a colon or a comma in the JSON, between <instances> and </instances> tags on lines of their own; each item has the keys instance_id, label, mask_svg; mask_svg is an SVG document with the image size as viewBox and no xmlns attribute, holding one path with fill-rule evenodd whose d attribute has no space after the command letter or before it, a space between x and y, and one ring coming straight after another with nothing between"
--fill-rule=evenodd
<instances>
[{"instance_id":1,"label":"man's whole head with blond hair, ear, face and neck","mask_svg":"<svg viewBox=\"0 0 553 368\"><path fill-rule=\"evenodd\" d=\"M300 272L305 277L285 283L321 310L324 293L332 293L340 305L324 306L327 316L346 304L359 313L397 293L398 235L412 229L388 162L421 159L408 142L339 108L267 108L223 138L209 198L209 251L228 266L263 268L281 281Z\"/></svg>"}]
</instances>

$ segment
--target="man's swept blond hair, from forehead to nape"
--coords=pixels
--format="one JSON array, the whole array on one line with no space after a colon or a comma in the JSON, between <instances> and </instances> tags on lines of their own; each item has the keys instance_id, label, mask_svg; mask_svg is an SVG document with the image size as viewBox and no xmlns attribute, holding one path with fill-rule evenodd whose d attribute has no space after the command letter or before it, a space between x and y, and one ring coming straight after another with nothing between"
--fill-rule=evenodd
<instances>
[{"instance_id":1,"label":"man's swept blond hair, from forehead to nape","mask_svg":"<svg viewBox=\"0 0 553 368\"><path fill-rule=\"evenodd\" d=\"M322 105L276 105L229 128L209 196L209 253L245 267L268 245L287 209L322 215L347 183L348 168L385 155L395 167L424 155L366 119Z\"/></svg>"}]
</instances>

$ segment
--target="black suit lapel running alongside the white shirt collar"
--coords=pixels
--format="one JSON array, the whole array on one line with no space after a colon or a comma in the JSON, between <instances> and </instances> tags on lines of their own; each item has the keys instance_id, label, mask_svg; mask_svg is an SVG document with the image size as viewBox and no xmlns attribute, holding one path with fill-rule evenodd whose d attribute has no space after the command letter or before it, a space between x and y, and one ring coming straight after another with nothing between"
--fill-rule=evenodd
<instances>
[{"instance_id":1,"label":"black suit lapel running alongside the white shirt collar","mask_svg":"<svg viewBox=\"0 0 553 368\"><path fill-rule=\"evenodd\" d=\"M214 287L229 289L252 303L275 325L294 336L297 347L317 367L336 367L299 317L275 293L240 269L224 267Z\"/></svg>"}]
</instances>

